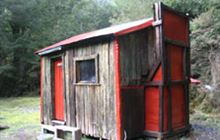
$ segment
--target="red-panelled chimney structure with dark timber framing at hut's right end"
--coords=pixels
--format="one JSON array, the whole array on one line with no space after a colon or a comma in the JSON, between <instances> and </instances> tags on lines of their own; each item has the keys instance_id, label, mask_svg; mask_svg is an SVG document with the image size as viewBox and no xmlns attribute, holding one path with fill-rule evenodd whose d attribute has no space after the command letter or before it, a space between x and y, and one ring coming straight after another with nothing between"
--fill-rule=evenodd
<instances>
[{"instance_id":1,"label":"red-panelled chimney structure with dark timber framing at hut's right end","mask_svg":"<svg viewBox=\"0 0 220 140\"><path fill-rule=\"evenodd\" d=\"M161 66L146 88L146 134L157 132L160 137L174 135L180 128L189 129L188 85L190 76L189 20L188 18L158 3L154 5L156 45L161 52ZM158 73L158 71L160 71ZM154 94L155 93L155 94ZM158 94L159 93L159 94ZM150 102L157 100L153 107ZM158 102L159 100L159 102ZM157 114L153 117L151 112ZM155 123L156 122L156 123Z\"/></svg>"}]
</instances>

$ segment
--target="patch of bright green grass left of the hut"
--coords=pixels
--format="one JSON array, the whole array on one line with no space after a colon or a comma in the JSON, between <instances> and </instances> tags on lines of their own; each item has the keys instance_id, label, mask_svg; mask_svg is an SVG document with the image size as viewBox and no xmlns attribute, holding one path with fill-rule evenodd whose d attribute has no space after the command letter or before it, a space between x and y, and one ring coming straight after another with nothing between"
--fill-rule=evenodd
<instances>
[{"instance_id":1,"label":"patch of bright green grass left of the hut","mask_svg":"<svg viewBox=\"0 0 220 140\"><path fill-rule=\"evenodd\" d=\"M40 133L39 97L0 98L0 139L35 140Z\"/></svg>"}]
</instances>

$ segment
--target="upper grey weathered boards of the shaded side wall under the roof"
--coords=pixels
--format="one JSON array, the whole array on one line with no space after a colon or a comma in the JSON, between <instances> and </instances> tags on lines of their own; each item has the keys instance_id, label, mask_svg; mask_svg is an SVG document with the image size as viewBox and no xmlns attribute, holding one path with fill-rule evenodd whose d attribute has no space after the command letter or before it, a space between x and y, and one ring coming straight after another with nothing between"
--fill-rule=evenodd
<instances>
[{"instance_id":1,"label":"upper grey weathered boards of the shaded side wall under the roof","mask_svg":"<svg viewBox=\"0 0 220 140\"><path fill-rule=\"evenodd\" d=\"M140 85L159 60L152 28L119 38L121 85Z\"/></svg>"}]
</instances>

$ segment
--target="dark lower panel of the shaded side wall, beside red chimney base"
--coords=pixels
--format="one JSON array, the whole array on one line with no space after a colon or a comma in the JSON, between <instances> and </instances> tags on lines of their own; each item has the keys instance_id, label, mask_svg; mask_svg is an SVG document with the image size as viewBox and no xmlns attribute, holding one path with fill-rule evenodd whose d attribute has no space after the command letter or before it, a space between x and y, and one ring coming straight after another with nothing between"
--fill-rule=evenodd
<instances>
[{"instance_id":1,"label":"dark lower panel of the shaded side wall, beside red chimney base","mask_svg":"<svg viewBox=\"0 0 220 140\"><path fill-rule=\"evenodd\" d=\"M122 89L122 120L127 138L139 137L144 130L144 87Z\"/></svg>"}]
</instances>

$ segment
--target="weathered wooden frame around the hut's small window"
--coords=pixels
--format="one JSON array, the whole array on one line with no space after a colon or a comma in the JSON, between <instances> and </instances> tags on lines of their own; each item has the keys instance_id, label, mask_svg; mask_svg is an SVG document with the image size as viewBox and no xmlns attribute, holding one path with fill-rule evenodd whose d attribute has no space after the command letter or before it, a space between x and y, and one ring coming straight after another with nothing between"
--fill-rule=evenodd
<instances>
[{"instance_id":1,"label":"weathered wooden frame around the hut's small window","mask_svg":"<svg viewBox=\"0 0 220 140\"><path fill-rule=\"evenodd\" d=\"M94 55L89 55L89 56L82 56L82 57L75 57L73 58L73 62L74 62L74 85L100 85L99 83L99 64L98 64L98 59L99 59L99 55L98 54L94 54ZM78 81L78 77L77 77L77 62L79 61L87 61L87 60L94 60L95 62L95 77L96 80L95 82L80 82Z\"/></svg>"}]
</instances>

